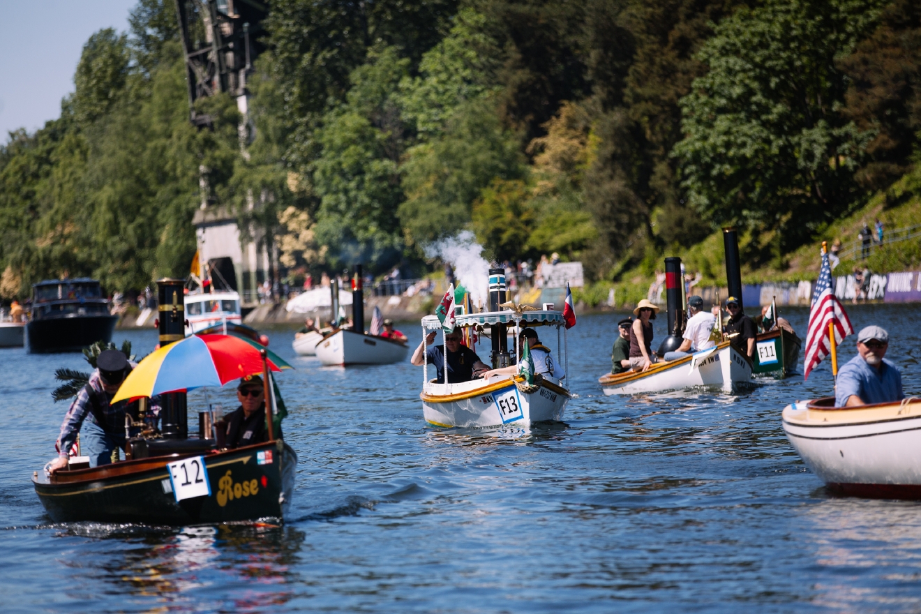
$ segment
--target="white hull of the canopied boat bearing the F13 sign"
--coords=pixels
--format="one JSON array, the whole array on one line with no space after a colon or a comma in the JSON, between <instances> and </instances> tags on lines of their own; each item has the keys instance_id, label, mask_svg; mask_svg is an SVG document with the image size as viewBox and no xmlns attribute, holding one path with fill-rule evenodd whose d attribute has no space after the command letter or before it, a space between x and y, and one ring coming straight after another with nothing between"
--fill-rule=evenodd
<instances>
[{"instance_id":1,"label":"white hull of the canopied boat bearing the F13 sign","mask_svg":"<svg viewBox=\"0 0 921 614\"><path fill-rule=\"evenodd\" d=\"M519 390L511 379L500 377L491 383L429 383L421 397L426 423L466 428L559 422L569 393L559 385L544 382L529 394Z\"/></svg>"}]
</instances>

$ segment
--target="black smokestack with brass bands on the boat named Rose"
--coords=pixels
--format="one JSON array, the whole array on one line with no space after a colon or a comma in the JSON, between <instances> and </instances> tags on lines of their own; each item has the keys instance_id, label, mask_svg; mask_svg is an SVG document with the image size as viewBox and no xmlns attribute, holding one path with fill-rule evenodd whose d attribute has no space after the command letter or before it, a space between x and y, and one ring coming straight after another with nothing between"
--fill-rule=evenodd
<instances>
[{"instance_id":1,"label":"black smokestack with brass bands on the boat named Rose","mask_svg":"<svg viewBox=\"0 0 921 614\"><path fill-rule=\"evenodd\" d=\"M157 280L159 303L160 347L185 339L185 281ZM184 392L161 395L160 431L164 439L186 439L189 436L189 416Z\"/></svg>"}]
</instances>

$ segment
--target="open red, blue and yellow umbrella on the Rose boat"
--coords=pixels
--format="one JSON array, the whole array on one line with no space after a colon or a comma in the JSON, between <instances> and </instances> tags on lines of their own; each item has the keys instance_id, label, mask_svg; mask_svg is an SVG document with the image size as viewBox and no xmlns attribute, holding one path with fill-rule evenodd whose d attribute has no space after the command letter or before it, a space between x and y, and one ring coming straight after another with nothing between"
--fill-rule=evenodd
<instances>
[{"instance_id":1,"label":"open red, blue and yellow umbrella on the Rose boat","mask_svg":"<svg viewBox=\"0 0 921 614\"><path fill-rule=\"evenodd\" d=\"M281 371L271 358L267 363L269 370ZM252 375L262 375L262 355L249 342L232 335L192 335L148 355L125 377L111 402L220 387Z\"/></svg>"}]
</instances>

